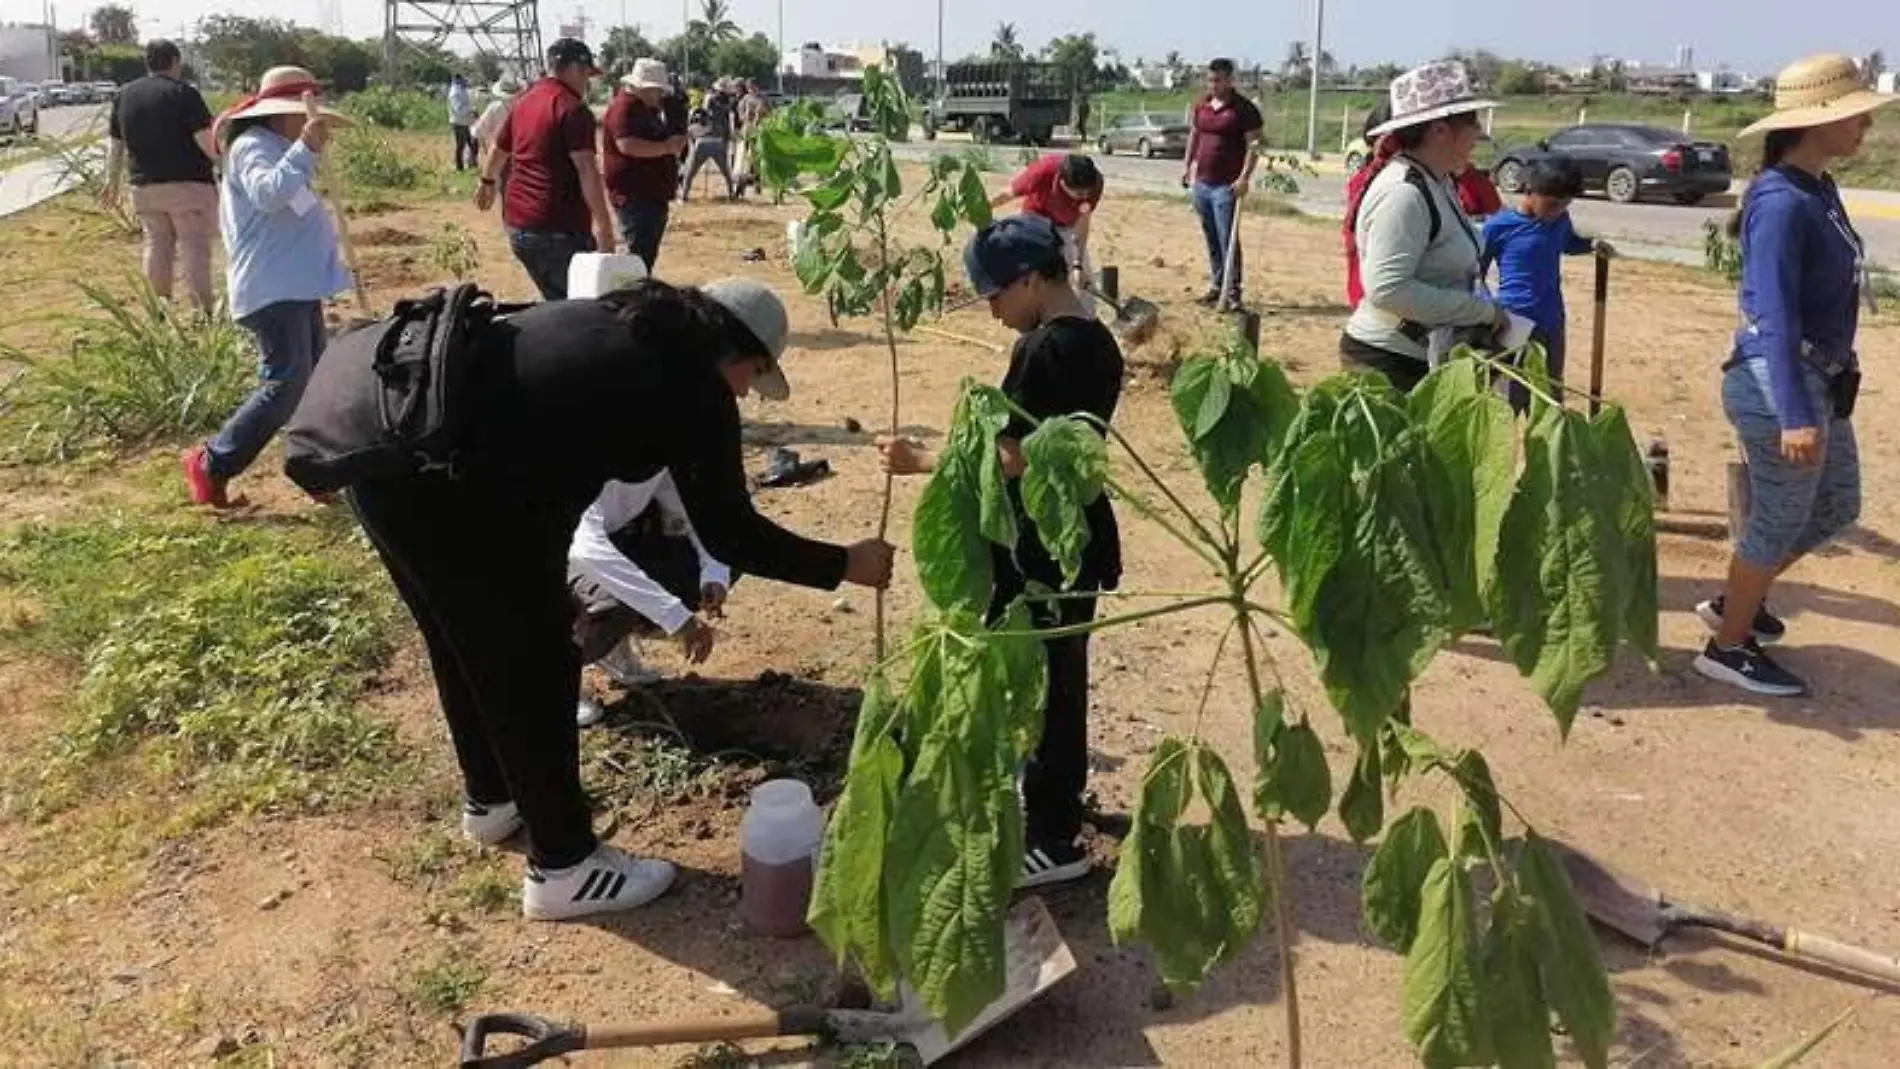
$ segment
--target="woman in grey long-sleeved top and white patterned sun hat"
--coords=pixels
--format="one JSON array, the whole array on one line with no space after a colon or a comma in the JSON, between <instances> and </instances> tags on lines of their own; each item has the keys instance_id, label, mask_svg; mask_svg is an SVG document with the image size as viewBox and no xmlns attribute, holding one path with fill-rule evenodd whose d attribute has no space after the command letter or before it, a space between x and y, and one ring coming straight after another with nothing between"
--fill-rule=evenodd
<instances>
[{"instance_id":1,"label":"woman in grey long-sleeved top and white patterned sun hat","mask_svg":"<svg viewBox=\"0 0 1900 1069\"><path fill-rule=\"evenodd\" d=\"M1340 363L1383 374L1410 393L1433 351L1461 328L1490 336L1510 325L1478 292L1478 232L1459 205L1455 177L1484 137L1478 99L1459 63L1427 63L1391 85L1391 118L1366 131L1391 137L1391 163L1366 188L1353 224L1364 300L1345 323Z\"/></svg>"}]
</instances>

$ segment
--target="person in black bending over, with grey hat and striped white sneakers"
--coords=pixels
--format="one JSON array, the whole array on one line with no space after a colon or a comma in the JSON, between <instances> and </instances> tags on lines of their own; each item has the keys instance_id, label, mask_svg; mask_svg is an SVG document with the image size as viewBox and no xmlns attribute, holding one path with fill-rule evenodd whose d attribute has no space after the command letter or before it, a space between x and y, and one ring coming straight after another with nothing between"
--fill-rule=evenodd
<instances>
[{"instance_id":1,"label":"person in black bending over, with grey hat and striped white sneakers","mask_svg":"<svg viewBox=\"0 0 1900 1069\"><path fill-rule=\"evenodd\" d=\"M608 480L671 471L707 551L749 575L817 589L891 581L887 543L809 541L752 511L739 399L790 395L787 330L785 306L749 279L642 281L538 304L471 342L467 359L484 372L469 385L454 475L350 490L429 649L462 765L464 834L492 845L528 832L528 919L631 910L674 875L600 843L581 792L568 551Z\"/></svg>"}]
</instances>

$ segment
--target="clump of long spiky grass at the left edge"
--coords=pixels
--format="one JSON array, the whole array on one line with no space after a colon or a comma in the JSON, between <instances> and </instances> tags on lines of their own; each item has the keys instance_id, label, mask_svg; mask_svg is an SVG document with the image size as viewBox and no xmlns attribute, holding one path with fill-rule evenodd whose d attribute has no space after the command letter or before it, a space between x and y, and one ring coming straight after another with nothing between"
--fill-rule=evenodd
<instances>
[{"instance_id":1,"label":"clump of long spiky grass at the left edge","mask_svg":"<svg viewBox=\"0 0 1900 1069\"><path fill-rule=\"evenodd\" d=\"M256 378L249 340L230 317L167 306L148 283L122 302L80 283L101 315L72 321L63 357L19 355L27 365L0 408L15 459L70 459L131 450L217 427Z\"/></svg>"}]
</instances>

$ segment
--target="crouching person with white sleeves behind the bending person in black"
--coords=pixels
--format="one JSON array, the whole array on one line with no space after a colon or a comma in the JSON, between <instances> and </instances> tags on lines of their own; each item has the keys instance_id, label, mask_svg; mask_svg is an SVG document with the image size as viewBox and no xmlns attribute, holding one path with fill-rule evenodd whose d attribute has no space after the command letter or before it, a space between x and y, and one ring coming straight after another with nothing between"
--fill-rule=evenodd
<instances>
[{"instance_id":1,"label":"crouching person with white sleeves behind the bending person in black","mask_svg":"<svg viewBox=\"0 0 1900 1069\"><path fill-rule=\"evenodd\" d=\"M608 482L568 545L574 644L583 665L598 665L623 687L659 678L636 651L646 636L678 638L686 661L703 665L716 634L701 615L722 617L730 589L732 570L694 534L665 471L644 482ZM602 716L600 703L581 697L581 727Z\"/></svg>"}]
</instances>

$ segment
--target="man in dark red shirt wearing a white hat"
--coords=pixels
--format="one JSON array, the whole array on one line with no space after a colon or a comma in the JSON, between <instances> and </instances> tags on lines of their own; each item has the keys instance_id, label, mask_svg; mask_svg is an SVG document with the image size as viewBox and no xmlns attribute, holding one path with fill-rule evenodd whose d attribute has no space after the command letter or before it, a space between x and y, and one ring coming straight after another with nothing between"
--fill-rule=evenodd
<instances>
[{"instance_id":1,"label":"man in dark red shirt wearing a white hat","mask_svg":"<svg viewBox=\"0 0 1900 1069\"><path fill-rule=\"evenodd\" d=\"M680 188L686 137L671 133L661 112L667 95L665 63L640 59L619 84L600 123L606 196L614 203L627 251L652 272L659 262L659 239L667 234L673 196Z\"/></svg>"}]
</instances>

